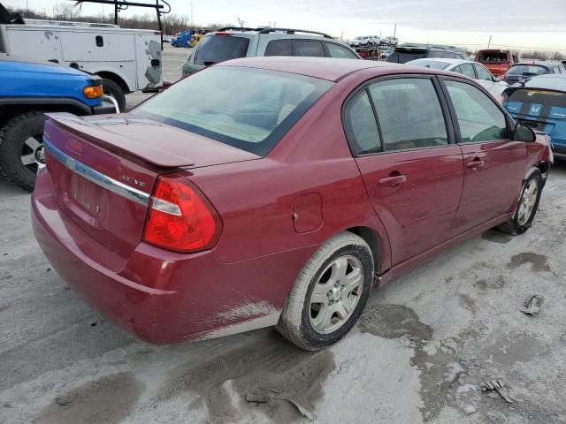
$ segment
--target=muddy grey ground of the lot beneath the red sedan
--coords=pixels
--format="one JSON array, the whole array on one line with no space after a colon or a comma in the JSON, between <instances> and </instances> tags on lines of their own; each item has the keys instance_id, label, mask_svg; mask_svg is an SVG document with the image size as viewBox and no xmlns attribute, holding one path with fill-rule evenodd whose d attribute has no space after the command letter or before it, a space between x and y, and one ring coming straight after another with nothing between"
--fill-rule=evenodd
<instances>
[{"instance_id":1,"label":"muddy grey ground of the lot beneath the red sedan","mask_svg":"<svg viewBox=\"0 0 566 424\"><path fill-rule=\"evenodd\" d=\"M174 346L130 337L50 268L29 194L1 180L0 204L0 422L309 422L290 398L320 423L566 423L566 163L530 231L487 231L398 278L316 353L273 329ZM519 312L532 294L538 316ZM516 402L478 390L494 379Z\"/></svg>"}]
</instances>

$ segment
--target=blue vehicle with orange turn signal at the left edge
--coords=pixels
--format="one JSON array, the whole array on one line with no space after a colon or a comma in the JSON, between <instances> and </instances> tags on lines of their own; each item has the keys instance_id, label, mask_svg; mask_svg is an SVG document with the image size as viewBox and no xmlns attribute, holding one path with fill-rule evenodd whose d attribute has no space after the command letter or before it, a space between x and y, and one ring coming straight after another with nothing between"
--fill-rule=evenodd
<instances>
[{"instance_id":1,"label":"blue vehicle with orange turn signal at the left edge","mask_svg":"<svg viewBox=\"0 0 566 424\"><path fill-rule=\"evenodd\" d=\"M0 53L0 80L0 171L26 190L33 190L35 173L45 163L44 112L116 112L102 100L100 77L59 64Z\"/></svg>"}]
</instances>

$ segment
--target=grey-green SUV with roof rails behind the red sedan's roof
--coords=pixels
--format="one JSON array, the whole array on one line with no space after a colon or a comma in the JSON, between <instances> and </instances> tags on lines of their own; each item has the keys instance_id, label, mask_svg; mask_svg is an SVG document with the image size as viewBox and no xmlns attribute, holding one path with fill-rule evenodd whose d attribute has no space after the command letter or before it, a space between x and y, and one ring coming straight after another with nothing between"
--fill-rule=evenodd
<instances>
[{"instance_id":1,"label":"grey-green SUV with roof rails behind the red sedan's roof","mask_svg":"<svg viewBox=\"0 0 566 424\"><path fill-rule=\"evenodd\" d=\"M225 60L256 56L361 58L346 44L316 31L226 27L204 35L183 64L182 75Z\"/></svg>"}]
</instances>

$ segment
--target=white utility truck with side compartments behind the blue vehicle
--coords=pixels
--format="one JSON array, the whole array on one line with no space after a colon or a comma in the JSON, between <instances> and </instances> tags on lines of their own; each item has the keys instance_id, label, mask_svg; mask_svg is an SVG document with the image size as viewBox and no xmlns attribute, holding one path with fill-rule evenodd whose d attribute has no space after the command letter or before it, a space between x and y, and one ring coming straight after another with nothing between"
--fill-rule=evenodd
<instances>
[{"instance_id":1,"label":"white utility truck with side compartments behind the blue vehicle","mask_svg":"<svg viewBox=\"0 0 566 424\"><path fill-rule=\"evenodd\" d=\"M103 79L106 95L126 106L126 94L163 86L159 31L118 25L27 19L0 25L0 51L65 64Z\"/></svg>"}]
</instances>

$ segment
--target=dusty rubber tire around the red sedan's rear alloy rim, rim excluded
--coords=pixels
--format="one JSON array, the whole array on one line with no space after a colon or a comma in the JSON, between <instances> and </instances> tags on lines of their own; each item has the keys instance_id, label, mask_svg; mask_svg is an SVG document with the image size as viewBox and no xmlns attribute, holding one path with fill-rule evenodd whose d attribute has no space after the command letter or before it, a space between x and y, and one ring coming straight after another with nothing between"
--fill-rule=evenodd
<instances>
[{"instance_id":1,"label":"dusty rubber tire around the red sedan's rear alloy rim, rim excluded","mask_svg":"<svg viewBox=\"0 0 566 424\"><path fill-rule=\"evenodd\" d=\"M311 324L311 314L320 313L313 310L313 305L316 306L316 304L311 302L311 296L315 286L325 281L325 275L328 272L332 274L333 270L329 271L329 267L335 261L340 260L340 258L346 257L350 258L349 260L354 258L362 265L363 275L360 276L361 283L359 290L356 292L356 297L359 299L357 299L355 306L350 308L352 312L348 318L342 320L340 327L333 329L331 332L321 334ZM348 276L348 270L345 272L346 276ZM350 272L354 271L350 269ZM287 297L286 305L277 324L279 333L294 343L294 345L308 351L317 351L335 344L352 329L362 314L363 307L365 307L367 299L370 297L373 286L373 273L373 255L371 254L370 246L362 238L349 231L336 234L312 255L294 281L293 288ZM328 276L328 281L330 279L331 276ZM341 289L339 290L341 293ZM330 294L328 296L330 297ZM347 296L349 297L349 295ZM328 316L331 317L332 321L334 313L330 313ZM314 318L316 319L316 316Z\"/></svg>"}]
</instances>

